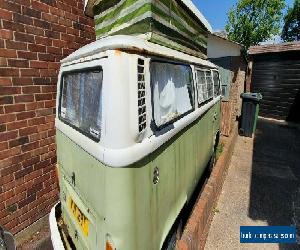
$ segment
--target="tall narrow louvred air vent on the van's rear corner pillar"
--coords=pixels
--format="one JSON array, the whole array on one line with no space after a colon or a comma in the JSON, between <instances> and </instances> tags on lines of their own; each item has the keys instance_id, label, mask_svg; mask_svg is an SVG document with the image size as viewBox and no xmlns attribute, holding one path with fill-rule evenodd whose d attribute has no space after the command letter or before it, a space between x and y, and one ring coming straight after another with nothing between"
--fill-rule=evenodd
<instances>
[{"instance_id":1,"label":"tall narrow louvred air vent on the van's rear corner pillar","mask_svg":"<svg viewBox=\"0 0 300 250\"><path fill-rule=\"evenodd\" d=\"M146 129L146 86L145 86L145 61L138 59L138 115L139 132Z\"/></svg>"}]
</instances>

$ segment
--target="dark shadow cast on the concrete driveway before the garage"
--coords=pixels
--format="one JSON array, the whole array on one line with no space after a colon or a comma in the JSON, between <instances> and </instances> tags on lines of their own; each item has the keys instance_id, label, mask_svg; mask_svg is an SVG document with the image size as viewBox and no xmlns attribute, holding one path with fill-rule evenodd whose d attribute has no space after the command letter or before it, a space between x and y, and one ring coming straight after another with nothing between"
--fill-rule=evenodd
<instances>
[{"instance_id":1,"label":"dark shadow cast on the concrete driveway before the garage","mask_svg":"<svg viewBox=\"0 0 300 250\"><path fill-rule=\"evenodd\" d=\"M300 233L300 129L260 119L254 139L249 217ZM299 249L281 244L280 249Z\"/></svg>"}]
</instances>

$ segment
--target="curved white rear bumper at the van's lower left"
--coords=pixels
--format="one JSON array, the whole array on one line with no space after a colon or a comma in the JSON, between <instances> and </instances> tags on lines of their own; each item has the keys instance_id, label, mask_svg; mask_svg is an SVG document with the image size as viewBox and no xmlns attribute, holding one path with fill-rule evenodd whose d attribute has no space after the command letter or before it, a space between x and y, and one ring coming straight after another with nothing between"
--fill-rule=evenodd
<instances>
[{"instance_id":1,"label":"curved white rear bumper at the van's lower left","mask_svg":"<svg viewBox=\"0 0 300 250\"><path fill-rule=\"evenodd\" d=\"M58 227L57 224L57 216L59 214L58 211L60 211L60 202L57 203L50 212L49 215L49 223L50 223L50 231L51 231L51 241L52 241L52 245L53 245L53 249L54 250L64 250L64 243L63 240L61 238L61 234L60 234L60 229Z\"/></svg>"}]
</instances>

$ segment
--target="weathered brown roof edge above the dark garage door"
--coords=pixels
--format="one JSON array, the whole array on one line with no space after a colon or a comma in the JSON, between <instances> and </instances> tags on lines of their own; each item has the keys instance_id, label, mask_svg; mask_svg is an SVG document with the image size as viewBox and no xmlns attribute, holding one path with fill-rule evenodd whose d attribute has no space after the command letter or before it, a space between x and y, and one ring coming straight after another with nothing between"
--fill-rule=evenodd
<instances>
[{"instance_id":1,"label":"weathered brown roof edge above the dark garage door","mask_svg":"<svg viewBox=\"0 0 300 250\"><path fill-rule=\"evenodd\" d=\"M252 46L249 48L249 55L279 53L285 51L300 51L300 42L289 42L272 45Z\"/></svg>"}]
</instances>

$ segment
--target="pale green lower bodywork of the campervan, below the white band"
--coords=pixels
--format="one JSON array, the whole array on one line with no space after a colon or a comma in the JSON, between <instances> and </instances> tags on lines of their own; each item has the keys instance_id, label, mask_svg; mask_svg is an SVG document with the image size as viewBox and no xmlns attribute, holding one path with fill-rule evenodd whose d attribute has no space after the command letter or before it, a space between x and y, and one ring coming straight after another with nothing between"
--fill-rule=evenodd
<instances>
[{"instance_id":1,"label":"pale green lower bodywork of the campervan, below the white band","mask_svg":"<svg viewBox=\"0 0 300 250\"><path fill-rule=\"evenodd\" d=\"M212 154L219 116L220 102L158 150L126 168L105 166L57 131L63 218L78 249L104 249L108 233L117 249L160 249ZM154 185L156 167L160 180ZM88 236L81 233L64 201L69 196L90 221Z\"/></svg>"}]
</instances>

